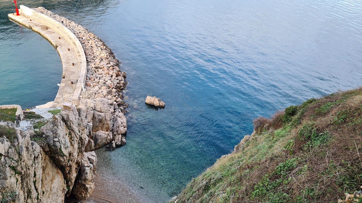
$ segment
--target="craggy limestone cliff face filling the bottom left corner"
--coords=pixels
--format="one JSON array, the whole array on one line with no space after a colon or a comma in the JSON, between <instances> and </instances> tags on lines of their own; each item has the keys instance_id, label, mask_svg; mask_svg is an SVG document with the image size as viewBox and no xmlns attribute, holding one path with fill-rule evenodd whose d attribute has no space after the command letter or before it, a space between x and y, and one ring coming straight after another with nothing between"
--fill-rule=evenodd
<instances>
[{"instance_id":1,"label":"craggy limestone cliff face filling the bottom left corner","mask_svg":"<svg viewBox=\"0 0 362 203\"><path fill-rule=\"evenodd\" d=\"M0 199L8 202L64 202L66 180L59 167L27 132L13 142L0 138Z\"/></svg>"}]
</instances>

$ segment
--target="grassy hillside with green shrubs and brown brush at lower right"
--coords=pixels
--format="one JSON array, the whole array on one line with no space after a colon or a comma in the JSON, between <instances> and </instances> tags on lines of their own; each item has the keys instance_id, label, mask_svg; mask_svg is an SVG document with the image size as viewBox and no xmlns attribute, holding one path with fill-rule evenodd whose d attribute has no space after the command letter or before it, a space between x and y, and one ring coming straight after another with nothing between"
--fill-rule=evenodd
<instances>
[{"instance_id":1,"label":"grassy hillside with green shrubs and brown brush at lower right","mask_svg":"<svg viewBox=\"0 0 362 203\"><path fill-rule=\"evenodd\" d=\"M259 118L178 196L183 202L337 202L362 185L362 88ZM249 139L248 139L249 138Z\"/></svg>"}]
</instances>

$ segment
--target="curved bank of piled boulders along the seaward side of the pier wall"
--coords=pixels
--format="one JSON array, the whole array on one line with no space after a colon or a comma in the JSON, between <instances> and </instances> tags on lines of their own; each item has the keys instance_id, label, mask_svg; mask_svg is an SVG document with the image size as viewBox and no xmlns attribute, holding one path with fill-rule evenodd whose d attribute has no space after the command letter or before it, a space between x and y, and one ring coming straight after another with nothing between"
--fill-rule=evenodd
<instances>
[{"instance_id":1,"label":"curved bank of piled boulders along the seaward side of the pier wall","mask_svg":"<svg viewBox=\"0 0 362 203\"><path fill-rule=\"evenodd\" d=\"M97 145L96 142L94 142L94 148L96 149L109 143L110 149L113 149L114 147L126 144L125 134L127 132L127 122L123 114L126 113L125 108L128 107L128 104L123 101L122 91L125 89L127 81L125 80L126 73L121 72L119 69L121 62L115 58L114 53L100 38L81 25L54 14L43 7L33 8L33 10L62 23L79 39L83 46L87 59L88 72L85 89L79 98L80 104L90 103L89 101L82 102L82 100L93 100L97 103L104 103L102 106L107 106L108 109L102 108L100 112L101 115L96 113L94 119L108 115L108 112L110 112L110 116L106 119L109 119L109 123L113 124L109 130L101 128L98 130L99 132L93 131L93 135L95 135L94 139L97 137L102 138L100 144ZM98 104L98 106L101 105ZM93 135L91 135L91 141ZM91 146L90 149L93 149L93 143L89 144Z\"/></svg>"}]
</instances>

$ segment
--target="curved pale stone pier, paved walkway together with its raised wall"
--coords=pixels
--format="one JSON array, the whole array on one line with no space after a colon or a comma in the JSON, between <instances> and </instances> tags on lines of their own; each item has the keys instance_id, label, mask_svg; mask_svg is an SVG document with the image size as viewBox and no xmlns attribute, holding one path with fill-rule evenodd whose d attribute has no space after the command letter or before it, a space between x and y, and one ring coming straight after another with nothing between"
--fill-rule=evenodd
<instances>
[{"instance_id":1,"label":"curved pale stone pier, paved walkway together with its raised wall","mask_svg":"<svg viewBox=\"0 0 362 203\"><path fill-rule=\"evenodd\" d=\"M84 88L87 75L87 62L79 40L67 27L51 17L22 5L20 8L20 16L10 13L8 15L10 20L41 34L57 49L63 64L63 76L65 74L60 83L64 102L78 105L79 95ZM61 107L62 104L62 95L59 89L51 107Z\"/></svg>"}]
</instances>

